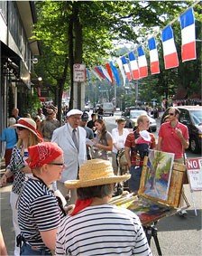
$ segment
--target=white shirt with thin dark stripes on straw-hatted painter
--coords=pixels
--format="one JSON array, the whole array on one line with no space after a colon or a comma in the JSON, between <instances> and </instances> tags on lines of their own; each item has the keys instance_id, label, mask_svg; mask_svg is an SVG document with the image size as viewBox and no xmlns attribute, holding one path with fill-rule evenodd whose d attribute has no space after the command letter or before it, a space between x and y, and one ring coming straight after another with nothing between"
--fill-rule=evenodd
<instances>
[{"instance_id":1,"label":"white shirt with thin dark stripes on straw-hatted painter","mask_svg":"<svg viewBox=\"0 0 202 256\"><path fill-rule=\"evenodd\" d=\"M152 255L139 218L112 204L89 206L66 216L57 233L55 255Z\"/></svg>"}]
</instances>

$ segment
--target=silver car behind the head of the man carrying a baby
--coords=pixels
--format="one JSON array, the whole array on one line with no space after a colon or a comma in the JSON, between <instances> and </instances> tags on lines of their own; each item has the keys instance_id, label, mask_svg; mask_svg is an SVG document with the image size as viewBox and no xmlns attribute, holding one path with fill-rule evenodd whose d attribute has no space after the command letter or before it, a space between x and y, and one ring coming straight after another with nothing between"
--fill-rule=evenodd
<instances>
[{"instance_id":1,"label":"silver car behind the head of the man carrying a baby","mask_svg":"<svg viewBox=\"0 0 202 256\"><path fill-rule=\"evenodd\" d=\"M137 118L142 114L148 116L148 114L145 110L128 109L128 110L124 111L122 116L126 120L125 127L126 128L136 128L137 127ZM156 120L152 119L150 116L148 116L148 117L150 119L150 130L156 131L156 129L157 129Z\"/></svg>"}]
</instances>

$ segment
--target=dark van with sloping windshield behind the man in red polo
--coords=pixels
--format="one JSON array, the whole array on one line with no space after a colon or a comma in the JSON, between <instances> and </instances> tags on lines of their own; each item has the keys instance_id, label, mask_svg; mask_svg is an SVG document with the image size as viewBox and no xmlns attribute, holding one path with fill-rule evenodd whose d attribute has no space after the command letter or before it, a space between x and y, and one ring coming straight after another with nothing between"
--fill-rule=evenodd
<instances>
[{"instance_id":1,"label":"dark van with sloping windshield behind the man in red polo","mask_svg":"<svg viewBox=\"0 0 202 256\"><path fill-rule=\"evenodd\" d=\"M161 123L163 119L169 113L169 109L166 109L161 117ZM189 134L189 149L193 153L201 151L202 143L202 106L179 106L180 111L179 122L188 127Z\"/></svg>"}]
</instances>

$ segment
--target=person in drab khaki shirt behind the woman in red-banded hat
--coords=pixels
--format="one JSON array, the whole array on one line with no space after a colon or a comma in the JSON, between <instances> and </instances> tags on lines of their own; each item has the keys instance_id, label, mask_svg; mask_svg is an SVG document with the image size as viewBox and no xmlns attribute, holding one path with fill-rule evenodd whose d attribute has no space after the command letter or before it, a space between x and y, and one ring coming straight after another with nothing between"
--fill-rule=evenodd
<instances>
[{"instance_id":1,"label":"person in drab khaki shirt behind the woman in red-banded hat","mask_svg":"<svg viewBox=\"0 0 202 256\"><path fill-rule=\"evenodd\" d=\"M44 141L50 141L53 131L60 128L60 121L56 119L57 110L54 106L49 107L46 119L41 122L41 134Z\"/></svg>"}]
</instances>

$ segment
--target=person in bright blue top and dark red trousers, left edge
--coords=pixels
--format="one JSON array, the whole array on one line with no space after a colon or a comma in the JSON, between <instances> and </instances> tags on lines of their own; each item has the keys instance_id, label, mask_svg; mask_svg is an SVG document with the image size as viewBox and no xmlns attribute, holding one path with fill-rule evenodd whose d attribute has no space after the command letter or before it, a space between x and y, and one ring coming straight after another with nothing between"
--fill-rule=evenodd
<instances>
[{"instance_id":1,"label":"person in bright blue top and dark red trousers, left edge","mask_svg":"<svg viewBox=\"0 0 202 256\"><path fill-rule=\"evenodd\" d=\"M14 145L17 143L17 133L14 128L11 128L16 123L16 119L10 118L8 119L8 128L5 128L2 133L1 140L5 141L5 168L9 165L12 150ZM13 182L13 176L7 179L7 182Z\"/></svg>"}]
</instances>

